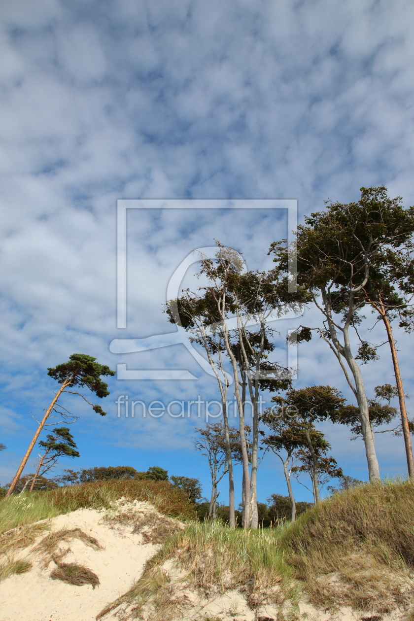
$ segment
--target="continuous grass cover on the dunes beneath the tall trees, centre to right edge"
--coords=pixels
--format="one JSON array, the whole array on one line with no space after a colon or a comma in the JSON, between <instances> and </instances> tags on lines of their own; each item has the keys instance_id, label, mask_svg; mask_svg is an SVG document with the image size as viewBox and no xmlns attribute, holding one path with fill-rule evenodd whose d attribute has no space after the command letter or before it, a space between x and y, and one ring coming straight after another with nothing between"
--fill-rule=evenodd
<instances>
[{"instance_id":1,"label":"continuous grass cover on the dunes beneath the tall trees, centre to right edge","mask_svg":"<svg viewBox=\"0 0 414 621\"><path fill-rule=\"evenodd\" d=\"M240 589L253 609L264 602L279 605L281 619L289 609L294 618L303 597L317 609L350 606L374 617L397 608L407 611L413 515L414 484L386 481L335 494L294 524L277 528L187 524L148 561L132 589L100 616L130 602L138 618L168 621L185 614L187 604L180 596L185 589L205 597ZM414 620L414 614L408 618Z\"/></svg>"}]
</instances>

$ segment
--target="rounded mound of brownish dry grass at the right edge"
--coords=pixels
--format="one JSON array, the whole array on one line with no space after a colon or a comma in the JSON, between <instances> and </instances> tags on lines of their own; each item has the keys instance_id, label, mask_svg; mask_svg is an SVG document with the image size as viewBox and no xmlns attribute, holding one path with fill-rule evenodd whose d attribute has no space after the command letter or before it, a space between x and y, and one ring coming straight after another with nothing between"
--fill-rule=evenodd
<instances>
[{"instance_id":1,"label":"rounded mound of brownish dry grass at the right edge","mask_svg":"<svg viewBox=\"0 0 414 621\"><path fill-rule=\"evenodd\" d=\"M412 483L367 484L300 516L279 545L317 607L384 614L410 601L413 515Z\"/></svg>"}]
</instances>

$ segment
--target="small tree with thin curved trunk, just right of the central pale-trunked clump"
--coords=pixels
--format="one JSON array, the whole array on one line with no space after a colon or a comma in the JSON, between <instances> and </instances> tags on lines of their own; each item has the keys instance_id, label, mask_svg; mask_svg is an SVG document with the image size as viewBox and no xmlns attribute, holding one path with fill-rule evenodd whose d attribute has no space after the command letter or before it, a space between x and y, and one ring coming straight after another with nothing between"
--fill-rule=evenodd
<instances>
[{"instance_id":1,"label":"small tree with thin curved trunk, just right of the central pale-trunked clump","mask_svg":"<svg viewBox=\"0 0 414 621\"><path fill-rule=\"evenodd\" d=\"M290 502L290 520L296 519L296 502L290 483L290 474L294 465L294 452L304 446L306 438L300 424L290 416L282 407L274 409L268 407L264 410L261 420L271 428L272 434L263 439L263 445L279 457L283 465L283 473L286 479L287 492Z\"/></svg>"}]
</instances>

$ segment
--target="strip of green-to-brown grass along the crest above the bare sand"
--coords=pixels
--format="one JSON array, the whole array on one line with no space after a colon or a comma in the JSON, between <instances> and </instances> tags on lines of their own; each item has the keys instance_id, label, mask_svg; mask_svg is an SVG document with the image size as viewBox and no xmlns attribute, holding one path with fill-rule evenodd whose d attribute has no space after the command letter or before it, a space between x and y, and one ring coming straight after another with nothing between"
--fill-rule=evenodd
<instances>
[{"instance_id":1,"label":"strip of green-to-brown grass along the crest above the bare sand","mask_svg":"<svg viewBox=\"0 0 414 621\"><path fill-rule=\"evenodd\" d=\"M112 479L1 499L0 533L76 509L110 509L120 498L150 502L171 517L194 517L186 494L166 481Z\"/></svg>"}]
</instances>

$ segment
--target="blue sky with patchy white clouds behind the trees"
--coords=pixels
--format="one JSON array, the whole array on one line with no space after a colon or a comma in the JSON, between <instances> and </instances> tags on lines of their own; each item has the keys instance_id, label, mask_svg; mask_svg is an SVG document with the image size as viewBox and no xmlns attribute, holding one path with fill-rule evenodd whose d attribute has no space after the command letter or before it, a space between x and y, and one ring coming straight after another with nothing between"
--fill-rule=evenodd
<instances>
[{"instance_id":1,"label":"blue sky with patchy white clouds behind the trees","mask_svg":"<svg viewBox=\"0 0 414 621\"><path fill-rule=\"evenodd\" d=\"M328 199L358 199L361 186L384 184L414 203L413 13L403 0L2 4L1 484L56 390L47 368L88 353L113 369L186 369L196 379L111 379L104 418L77 397L65 401L79 416L71 430L81 457L60 467L158 465L196 476L209 496L207 463L192 445L205 417L126 419L115 401L213 401L214 378L182 344L120 355L110 342L174 332L162 312L169 278L215 239L249 269L269 268L287 215L259 199L294 199L299 222ZM224 201L128 210L126 329L117 328L117 199ZM240 210L233 199L256 201ZM182 286L199 286L196 271L197 263ZM316 326L321 317L309 308L275 322L280 360L295 321ZM412 337L395 333L413 395ZM380 326L366 334L385 338ZM380 353L362 367L370 394L392 383L387 346ZM330 384L351 399L322 342L300 345L298 356L295 386ZM366 479L362 443L343 427L323 431L344 472ZM384 433L376 443L382 475L405 474L402 438ZM286 494L276 456L260 472L259 500ZM297 484L295 494L310 499Z\"/></svg>"}]
</instances>

